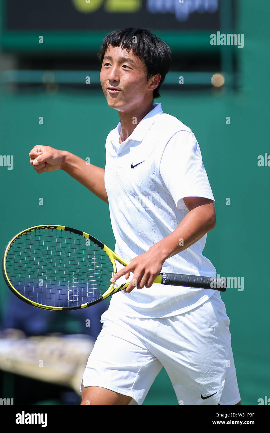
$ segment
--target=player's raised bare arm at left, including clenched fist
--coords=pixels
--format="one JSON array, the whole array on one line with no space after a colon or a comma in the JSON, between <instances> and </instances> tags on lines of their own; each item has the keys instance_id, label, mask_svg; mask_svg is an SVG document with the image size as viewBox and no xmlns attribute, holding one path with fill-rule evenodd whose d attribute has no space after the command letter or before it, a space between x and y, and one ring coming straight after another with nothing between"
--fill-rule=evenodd
<instances>
[{"instance_id":1,"label":"player's raised bare arm at left, including clenched fist","mask_svg":"<svg viewBox=\"0 0 270 433\"><path fill-rule=\"evenodd\" d=\"M35 146L29 156L30 164L37 173L63 170L108 203L104 186L104 168L88 164L84 159L70 152L50 146Z\"/></svg>"}]
</instances>

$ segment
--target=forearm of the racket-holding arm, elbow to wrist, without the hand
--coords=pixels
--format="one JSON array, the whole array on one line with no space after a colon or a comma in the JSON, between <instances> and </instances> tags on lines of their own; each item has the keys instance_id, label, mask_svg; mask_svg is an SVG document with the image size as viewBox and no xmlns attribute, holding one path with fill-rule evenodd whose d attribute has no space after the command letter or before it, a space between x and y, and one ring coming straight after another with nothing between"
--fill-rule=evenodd
<instances>
[{"instance_id":1,"label":"forearm of the racket-holding arm, elbow to wrist, without the hand","mask_svg":"<svg viewBox=\"0 0 270 433\"><path fill-rule=\"evenodd\" d=\"M209 216L208 205L190 210L176 229L151 249L156 250L163 262L197 242L215 227L215 216Z\"/></svg>"}]
</instances>

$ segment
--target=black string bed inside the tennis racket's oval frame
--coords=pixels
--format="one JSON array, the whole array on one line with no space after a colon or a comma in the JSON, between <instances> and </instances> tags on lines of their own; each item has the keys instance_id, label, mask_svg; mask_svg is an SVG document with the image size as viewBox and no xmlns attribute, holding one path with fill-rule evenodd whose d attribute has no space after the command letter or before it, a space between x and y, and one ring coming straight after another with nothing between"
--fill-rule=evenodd
<instances>
[{"instance_id":1,"label":"black string bed inside the tennis racket's oval frame","mask_svg":"<svg viewBox=\"0 0 270 433\"><path fill-rule=\"evenodd\" d=\"M110 286L113 265L100 246L59 229L26 232L11 244L7 275L16 290L49 307L95 301Z\"/></svg>"}]
</instances>

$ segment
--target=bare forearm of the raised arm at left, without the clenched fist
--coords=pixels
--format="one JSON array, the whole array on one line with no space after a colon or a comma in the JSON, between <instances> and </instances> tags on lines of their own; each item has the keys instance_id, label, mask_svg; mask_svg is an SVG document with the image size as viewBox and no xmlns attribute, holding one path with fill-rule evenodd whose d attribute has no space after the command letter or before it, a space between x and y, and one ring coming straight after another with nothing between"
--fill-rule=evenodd
<instances>
[{"instance_id":1,"label":"bare forearm of the raised arm at left, without the clenched fist","mask_svg":"<svg viewBox=\"0 0 270 433\"><path fill-rule=\"evenodd\" d=\"M101 200L108 203L107 192L104 186L104 168L88 164L84 159L70 152L63 151L63 153L64 162L62 170L88 188Z\"/></svg>"}]
</instances>

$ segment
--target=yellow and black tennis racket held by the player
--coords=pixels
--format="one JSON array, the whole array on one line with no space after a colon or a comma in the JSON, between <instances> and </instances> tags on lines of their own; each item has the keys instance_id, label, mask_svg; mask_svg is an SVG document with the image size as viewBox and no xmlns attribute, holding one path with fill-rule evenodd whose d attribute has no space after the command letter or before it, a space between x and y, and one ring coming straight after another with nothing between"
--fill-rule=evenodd
<instances>
[{"instance_id":1,"label":"yellow and black tennis racket held by the player","mask_svg":"<svg viewBox=\"0 0 270 433\"><path fill-rule=\"evenodd\" d=\"M88 233L66 226L41 225L18 233L3 254L10 290L27 304L67 311L89 307L127 288L115 287L116 262L129 262ZM154 283L225 291L225 277L161 272Z\"/></svg>"}]
</instances>

